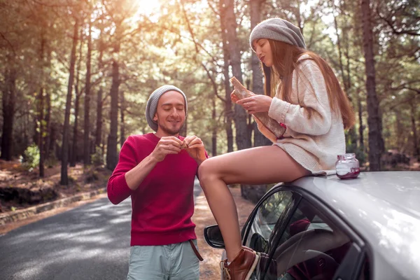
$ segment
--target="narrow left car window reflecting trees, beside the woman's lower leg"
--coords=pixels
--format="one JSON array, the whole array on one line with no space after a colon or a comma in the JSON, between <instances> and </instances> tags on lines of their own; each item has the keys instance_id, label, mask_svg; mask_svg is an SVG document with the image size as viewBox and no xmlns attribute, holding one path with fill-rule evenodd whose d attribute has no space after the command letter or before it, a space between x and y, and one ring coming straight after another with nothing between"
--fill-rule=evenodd
<instances>
[{"instance_id":1,"label":"narrow left car window reflecting trees, beside the woman's lower leg","mask_svg":"<svg viewBox=\"0 0 420 280\"><path fill-rule=\"evenodd\" d=\"M267 252L269 237L293 195L288 190L273 193L256 209L245 245L257 252Z\"/></svg>"}]
</instances>

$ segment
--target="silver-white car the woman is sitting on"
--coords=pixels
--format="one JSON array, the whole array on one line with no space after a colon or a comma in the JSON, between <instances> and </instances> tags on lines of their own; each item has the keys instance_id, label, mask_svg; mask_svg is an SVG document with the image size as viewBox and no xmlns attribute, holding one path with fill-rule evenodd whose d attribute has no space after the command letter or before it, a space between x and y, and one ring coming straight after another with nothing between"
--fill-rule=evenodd
<instances>
[{"instance_id":1,"label":"silver-white car the woman is sitting on","mask_svg":"<svg viewBox=\"0 0 420 280\"><path fill-rule=\"evenodd\" d=\"M420 172L279 184L255 206L241 236L262 255L251 279L420 279ZM204 237L224 248L218 225Z\"/></svg>"}]
</instances>

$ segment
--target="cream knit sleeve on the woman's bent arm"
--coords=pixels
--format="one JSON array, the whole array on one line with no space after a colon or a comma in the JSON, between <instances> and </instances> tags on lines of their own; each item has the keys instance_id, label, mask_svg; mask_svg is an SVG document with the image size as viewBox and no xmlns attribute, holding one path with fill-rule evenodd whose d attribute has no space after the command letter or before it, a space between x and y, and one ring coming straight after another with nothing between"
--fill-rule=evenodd
<instances>
[{"instance_id":1,"label":"cream knit sleeve on the woman's bent arm","mask_svg":"<svg viewBox=\"0 0 420 280\"><path fill-rule=\"evenodd\" d=\"M295 71L293 94L298 94L300 104L290 104L274 97L268 116L288 129L302 134L323 135L331 127L331 111L325 80L318 65L307 60ZM299 72L300 71L300 72Z\"/></svg>"}]
</instances>

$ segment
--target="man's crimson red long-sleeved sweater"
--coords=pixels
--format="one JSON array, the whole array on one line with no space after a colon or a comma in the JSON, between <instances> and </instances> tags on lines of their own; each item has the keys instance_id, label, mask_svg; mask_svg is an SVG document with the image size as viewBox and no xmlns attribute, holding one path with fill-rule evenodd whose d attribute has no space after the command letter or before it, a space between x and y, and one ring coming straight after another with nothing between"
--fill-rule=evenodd
<instances>
[{"instance_id":1,"label":"man's crimson red long-sleeved sweater","mask_svg":"<svg viewBox=\"0 0 420 280\"><path fill-rule=\"evenodd\" d=\"M150 155L159 140L153 133L128 137L108 181L108 197L113 204L131 195L131 246L166 245L197 238L191 216L198 166L185 150L158 162L137 190L131 190L125 181L125 173Z\"/></svg>"}]
</instances>

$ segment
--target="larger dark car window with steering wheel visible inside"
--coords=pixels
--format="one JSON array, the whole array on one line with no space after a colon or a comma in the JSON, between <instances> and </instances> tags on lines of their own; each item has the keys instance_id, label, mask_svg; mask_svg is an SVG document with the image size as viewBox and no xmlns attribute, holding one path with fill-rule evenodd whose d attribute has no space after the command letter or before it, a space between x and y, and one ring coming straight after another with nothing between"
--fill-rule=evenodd
<instances>
[{"instance_id":1,"label":"larger dark car window with steering wheel visible inside","mask_svg":"<svg viewBox=\"0 0 420 280\"><path fill-rule=\"evenodd\" d=\"M265 279L332 279L350 246L349 237L302 199L273 248L275 269L269 267Z\"/></svg>"}]
</instances>

